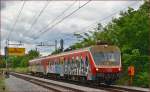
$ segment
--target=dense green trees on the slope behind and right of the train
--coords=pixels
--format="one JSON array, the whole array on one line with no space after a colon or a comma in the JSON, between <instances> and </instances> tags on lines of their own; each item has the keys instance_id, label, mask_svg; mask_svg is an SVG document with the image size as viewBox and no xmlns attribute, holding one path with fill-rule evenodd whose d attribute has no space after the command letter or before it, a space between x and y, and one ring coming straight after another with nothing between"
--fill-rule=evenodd
<instances>
[{"instance_id":1,"label":"dense green trees on the slope behind and right of the train","mask_svg":"<svg viewBox=\"0 0 150 92\"><path fill-rule=\"evenodd\" d=\"M122 53L123 75L127 78L128 66L134 65L136 75L133 85L150 86L150 58L149 58L149 36L150 36L150 4L144 2L138 10L128 8L125 12L120 12L119 18L114 18L105 27L98 26L89 31L90 34L78 35L82 41L71 47L82 48L94 45L97 40L107 41L117 45ZM98 24L99 25L99 24ZM146 79L145 79L146 78ZM124 80L123 83L127 83Z\"/></svg>"}]
</instances>

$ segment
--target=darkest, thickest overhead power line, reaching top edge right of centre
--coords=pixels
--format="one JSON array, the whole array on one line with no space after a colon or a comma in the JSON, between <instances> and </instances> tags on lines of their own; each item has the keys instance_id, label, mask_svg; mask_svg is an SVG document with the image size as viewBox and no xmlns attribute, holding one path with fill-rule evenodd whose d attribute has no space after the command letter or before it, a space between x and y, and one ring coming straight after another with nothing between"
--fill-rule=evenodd
<instances>
[{"instance_id":1,"label":"darkest, thickest overhead power line, reaching top edge right of centre","mask_svg":"<svg viewBox=\"0 0 150 92\"><path fill-rule=\"evenodd\" d=\"M58 25L59 23L61 23L63 20L65 20L66 18L68 18L69 16L71 16L72 14L74 14L75 12L77 12L79 9L81 9L82 7L84 7L85 5L87 5L91 0L89 0L88 2L86 2L85 4L83 4L82 6L80 6L78 9L74 10L73 12L71 12L70 14L68 14L67 16L65 16L63 19L61 19L60 21L56 22L54 25L52 25L50 28L46 29L45 31L42 31L39 33L39 35L37 35L35 37L35 40L38 39L42 34L46 33L47 31L51 30L52 28L54 28L56 25Z\"/></svg>"}]
</instances>

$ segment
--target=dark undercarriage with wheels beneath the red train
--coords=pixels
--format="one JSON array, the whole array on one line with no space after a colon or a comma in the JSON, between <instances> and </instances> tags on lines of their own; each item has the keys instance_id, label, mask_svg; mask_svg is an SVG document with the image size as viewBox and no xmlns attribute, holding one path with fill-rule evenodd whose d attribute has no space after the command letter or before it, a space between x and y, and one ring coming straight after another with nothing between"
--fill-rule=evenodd
<instances>
[{"instance_id":1,"label":"dark undercarriage with wheels beneath the red train","mask_svg":"<svg viewBox=\"0 0 150 92\"><path fill-rule=\"evenodd\" d=\"M105 83L111 85L116 80L119 79L119 73L97 73L93 80L87 80L86 76L79 75L69 75L69 74L56 74L56 73L43 73L43 72L31 72L31 75L37 77L51 78L51 79L65 79L65 80L75 80L80 82L95 82L95 83Z\"/></svg>"}]
</instances>

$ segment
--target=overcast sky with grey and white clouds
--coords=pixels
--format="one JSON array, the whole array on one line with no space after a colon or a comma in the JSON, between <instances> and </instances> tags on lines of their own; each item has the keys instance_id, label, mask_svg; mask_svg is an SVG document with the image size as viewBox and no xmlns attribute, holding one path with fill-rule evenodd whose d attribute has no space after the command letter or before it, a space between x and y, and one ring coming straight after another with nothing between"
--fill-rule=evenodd
<instances>
[{"instance_id":1,"label":"overcast sky with grey and white clouds","mask_svg":"<svg viewBox=\"0 0 150 92\"><path fill-rule=\"evenodd\" d=\"M25 47L27 51L38 48L43 55L52 52L54 47L37 47L37 43L46 41L47 44L54 44L55 40L59 41L63 38L66 48L77 42L73 36L74 32L87 32L95 27L97 22L106 25L113 17L119 16L119 11L125 11L128 7L138 9L143 3L142 1L120 0L91 1L61 21L87 1L1 2L1 53L4 54L5 42L9 35L10 43L22 41L24 45L21 47ZM22 11L20 12L21 8ZM61 22L58 25L51 28L59 21ZM43 31L46 32L43 33Z\"/></svg>"}]
</instances>

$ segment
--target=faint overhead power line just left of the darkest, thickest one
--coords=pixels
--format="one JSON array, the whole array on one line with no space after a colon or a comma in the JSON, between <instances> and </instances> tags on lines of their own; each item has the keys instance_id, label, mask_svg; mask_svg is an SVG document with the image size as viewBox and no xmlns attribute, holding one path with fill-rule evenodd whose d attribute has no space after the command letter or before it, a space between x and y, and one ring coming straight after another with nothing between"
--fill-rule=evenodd
<instances>
[{"instance_id":1,"label":"faint overhead power line just left of the darkest, thickest one","mask_svg":"<svg viewBox=\"0 0 150 92\"><path fill-rule=\"evenodd\" d=\"M55 23L55 21L56 21L59 17L61 17L63 14L65 14L65 12L67 12L75 3L76 3L76 1L73 2L69 7L67 7L67 8L66 8L61 14L59 14L55 19L53 19L52 21L50 21L50 22L48 23L48 25L46 25L44 28L42 28L41 30L39 30L39 32L42 32L42 30L48 28L50 24ZM34 34L33 34L33 35L34 35ZM33 36L33 35L32 35L32 36Z\"/></svg>"}]
</instances>

